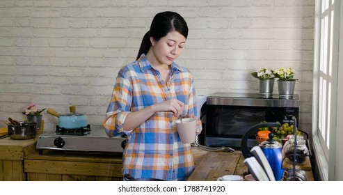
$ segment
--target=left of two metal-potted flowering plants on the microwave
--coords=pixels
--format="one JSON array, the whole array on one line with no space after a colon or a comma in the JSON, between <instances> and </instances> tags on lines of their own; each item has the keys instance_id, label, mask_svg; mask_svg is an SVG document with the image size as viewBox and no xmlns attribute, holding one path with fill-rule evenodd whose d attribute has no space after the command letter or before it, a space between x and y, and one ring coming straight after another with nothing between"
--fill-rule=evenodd
<instances>
[{"instance_id":1,"label":"left of two metal-potted flowering plants on the microwave","mask_svg":"<svg viewBox=\"0 0 343 195\"><path fill-rule=\"evenodd\" d=\"M256 72L252 72L251 75L259 80L260 95L265 98L269 98L273 93L274 88L274 74L273 70L267 68L261 68Z\"/></svg>"}]
</instances>

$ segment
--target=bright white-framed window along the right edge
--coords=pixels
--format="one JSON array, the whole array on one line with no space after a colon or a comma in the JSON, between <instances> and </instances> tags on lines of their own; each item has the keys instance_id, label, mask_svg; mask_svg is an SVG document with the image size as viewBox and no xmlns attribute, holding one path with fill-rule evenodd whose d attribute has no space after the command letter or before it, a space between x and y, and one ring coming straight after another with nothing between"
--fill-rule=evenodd
<instances>
[{"instance_id":1,"label":"bright white-framed window along the right edge","mask_svg":"<svg viewBox=\"0 0 343 195\"><path fill-rule=\"evenodd\" d=\"M312 132L319 172L335 180L338 40L340 1L317 0L314 38Z\"/></svg>"}]
</instances>

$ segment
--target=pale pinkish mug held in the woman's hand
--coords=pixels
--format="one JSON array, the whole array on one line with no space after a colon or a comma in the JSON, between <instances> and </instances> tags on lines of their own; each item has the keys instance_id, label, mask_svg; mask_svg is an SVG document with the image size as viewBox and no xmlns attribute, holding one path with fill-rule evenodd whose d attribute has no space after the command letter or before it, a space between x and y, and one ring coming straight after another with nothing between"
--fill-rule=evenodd
<instances>
[{"instance_id":1,"label":"pale pinkish mug held in the woman's hand","mask_svg":"<svg viewBox=\"0 0 343 195\"><path fill-rule=\"evenodd\" d=\"M182 143L193 143L196 141L196 118L183 118L175 121L177 132Z\"/></svg>"}]
</instances>

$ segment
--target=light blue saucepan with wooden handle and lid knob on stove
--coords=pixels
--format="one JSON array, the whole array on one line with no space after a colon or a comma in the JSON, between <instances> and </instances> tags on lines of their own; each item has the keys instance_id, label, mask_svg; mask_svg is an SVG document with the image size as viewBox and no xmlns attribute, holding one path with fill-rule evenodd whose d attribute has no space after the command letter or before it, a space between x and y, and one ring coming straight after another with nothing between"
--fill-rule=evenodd
<instances>
[{"instance_id":1,"label":"light blue saucepan with wooden handle and lid knob on stove","mask_svg":"<svg viewBox=\"0 0 343 195\"><path fill-rule=\"evenodd\" d=\"M79 129L87 126L87 115L82 113L76 113L75 106L70 106L70 113L59 114L56 110L48 108L47 113L58 117L58 127L65 128L67 130Z\"/></svg>"}]
</instances>

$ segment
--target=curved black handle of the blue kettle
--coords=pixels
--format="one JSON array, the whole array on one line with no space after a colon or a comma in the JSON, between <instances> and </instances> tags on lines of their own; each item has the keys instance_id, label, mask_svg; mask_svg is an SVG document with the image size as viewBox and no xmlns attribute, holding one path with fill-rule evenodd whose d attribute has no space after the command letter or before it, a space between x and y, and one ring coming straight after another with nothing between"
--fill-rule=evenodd
<instances>
[{"instance_id":1,"label":"curved black handle of the blue kettle","mask_svg":"<svg viewBox=\"0 0 343 195\"><path fill-rule=\"evenodd\" d=\"M257 125L251 126L246 134L243 135L241 139L241 153L244 156L244 158L252 157L253 154L250 152L248 148L248 137L251 134L256 134L259 131L260 127L280 127L280 123L259 123Z\"/></svg>"}]
</instances>

